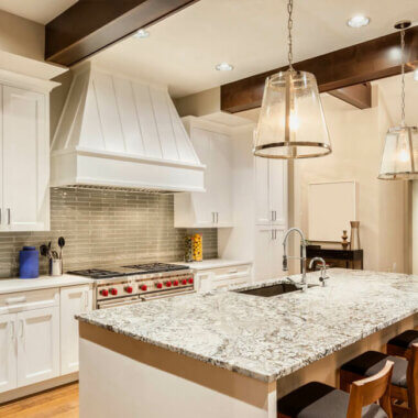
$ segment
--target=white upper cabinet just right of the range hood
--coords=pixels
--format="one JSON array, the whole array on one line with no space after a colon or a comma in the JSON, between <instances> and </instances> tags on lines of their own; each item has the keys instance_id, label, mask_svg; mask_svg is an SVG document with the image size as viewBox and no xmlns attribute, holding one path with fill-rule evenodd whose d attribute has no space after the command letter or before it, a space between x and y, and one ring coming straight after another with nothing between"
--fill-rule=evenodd
<instances>
[{"instance_id":1,"label":"white upper cabinet just right of the range hood","mask_svg":"<svg viewBox=\"0 0 418 418\"><path fill-rule=\"evenodd\" d=\"M231 139L206 124L194 121L189 134L195 151L206 165L205 193L175 195L176 228L230 228L232 215Z\"/></svg>"}]
</instances>

